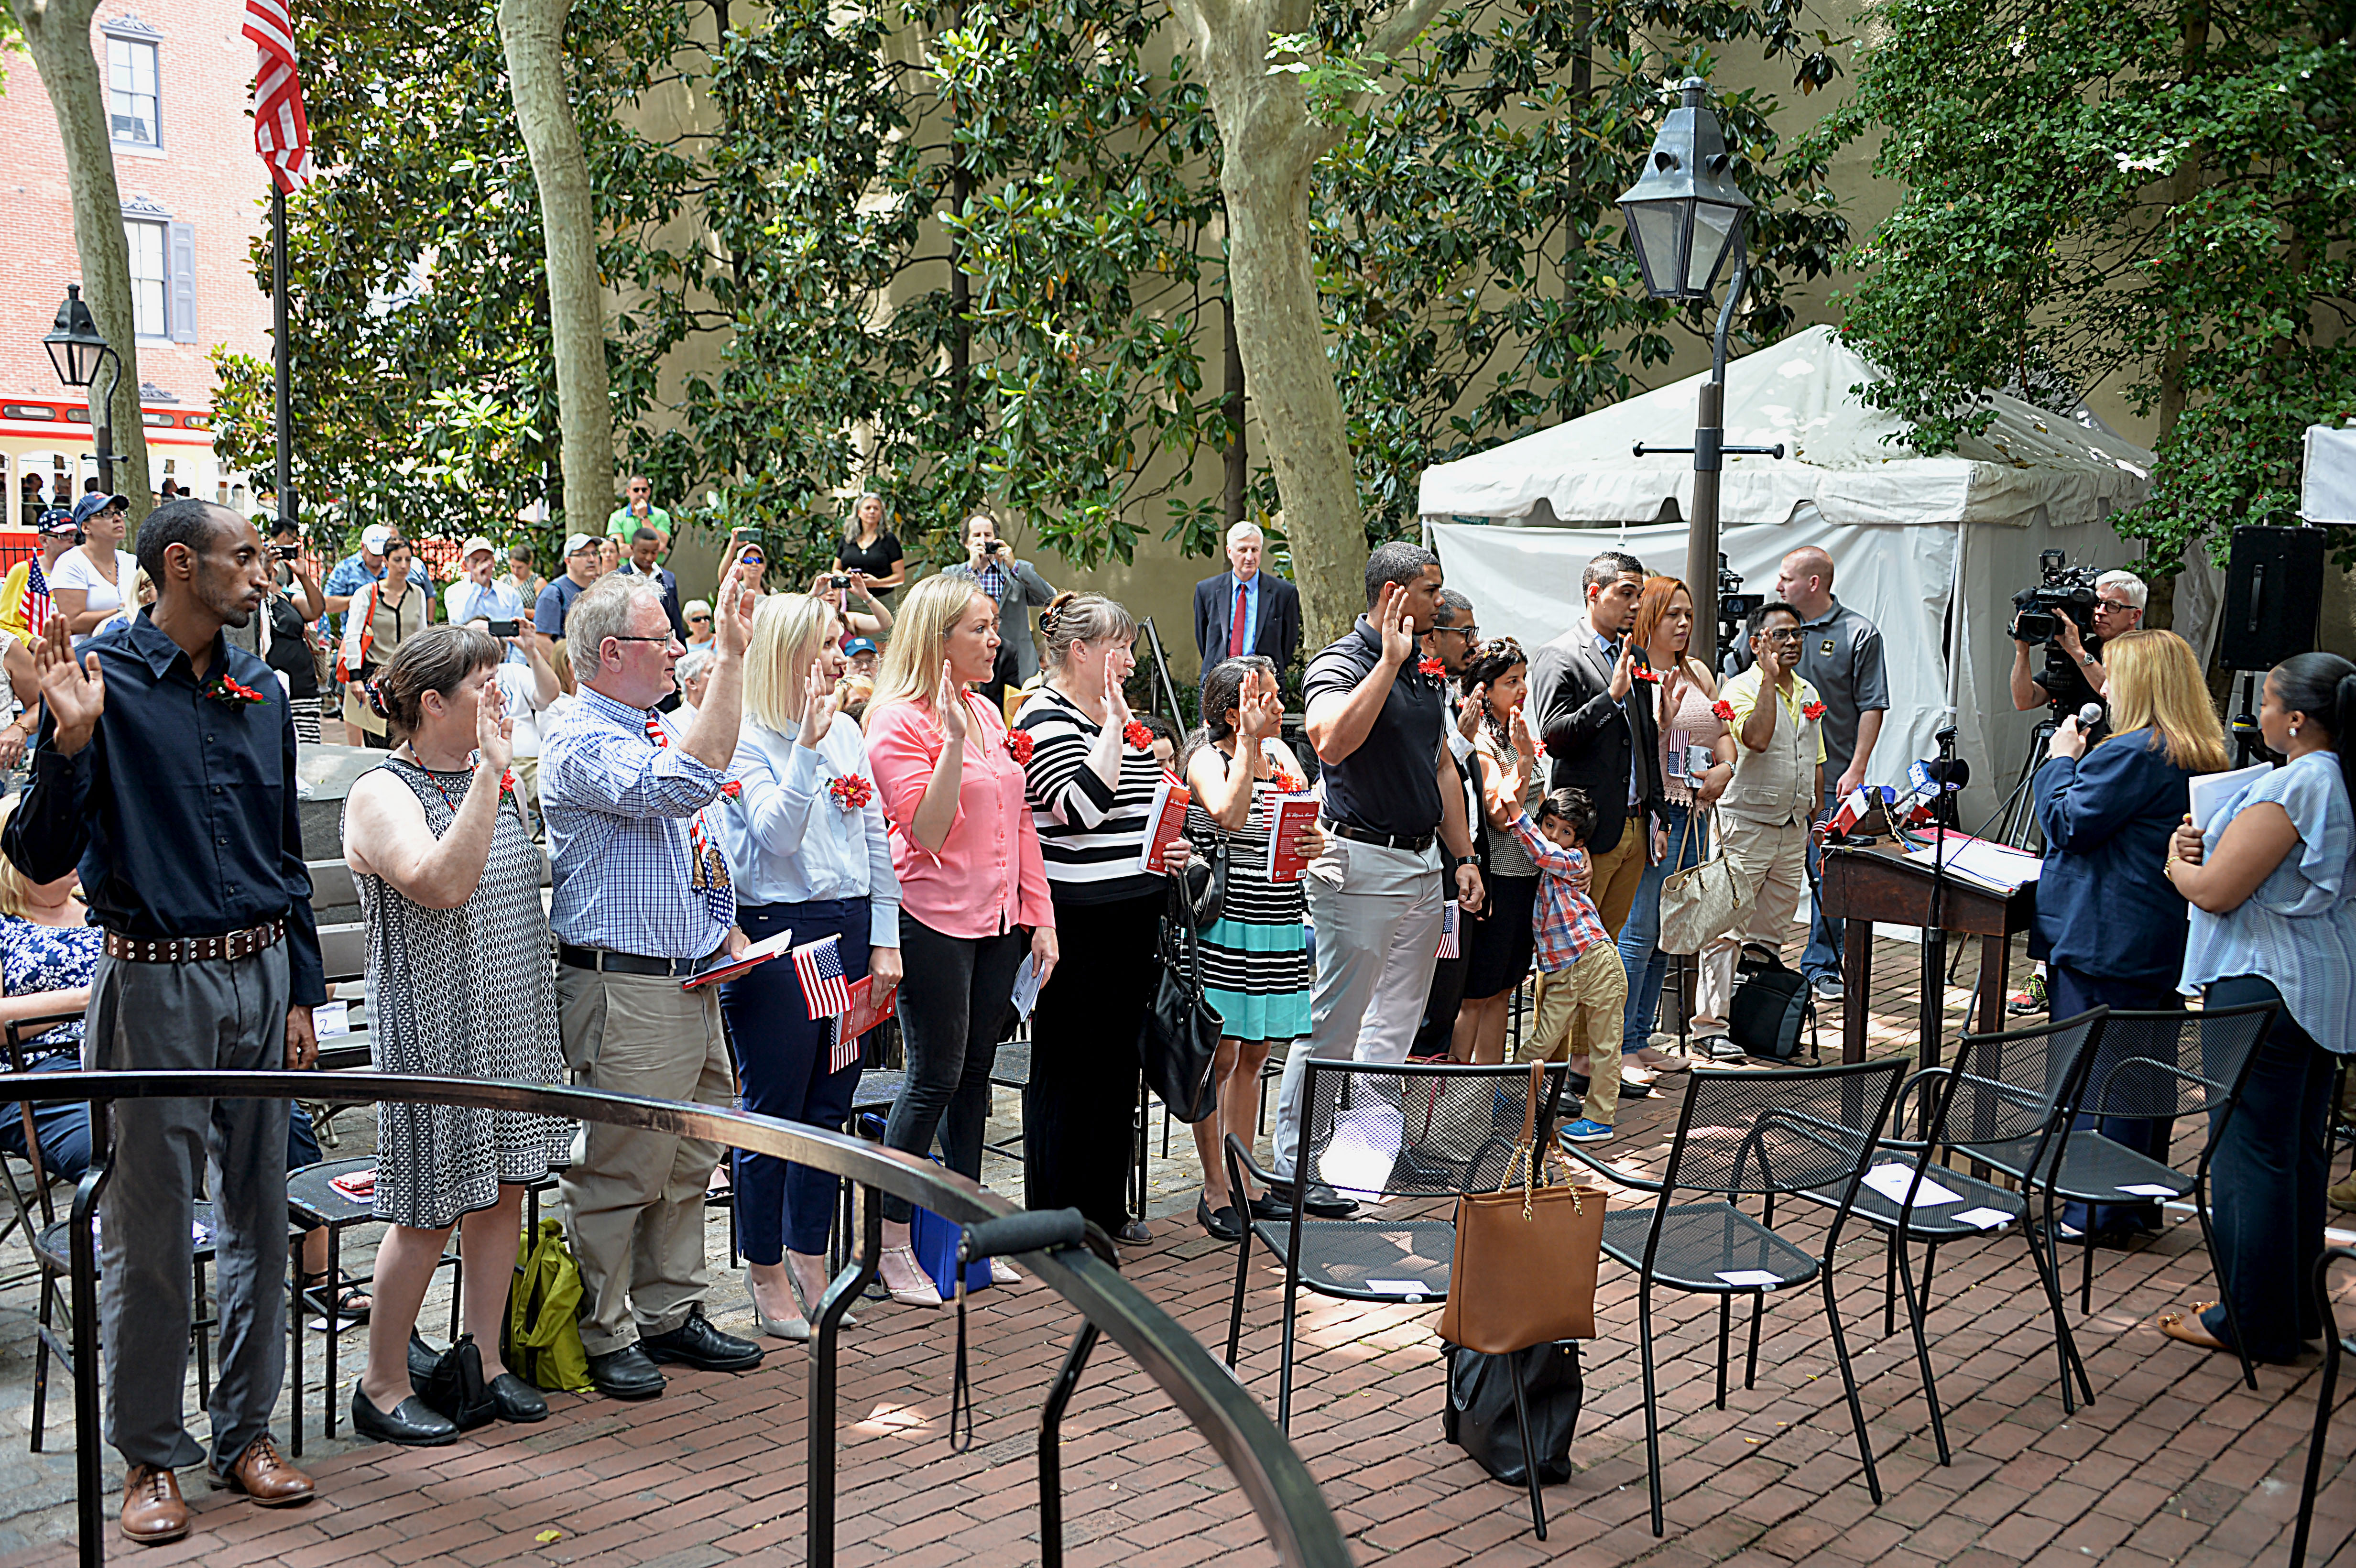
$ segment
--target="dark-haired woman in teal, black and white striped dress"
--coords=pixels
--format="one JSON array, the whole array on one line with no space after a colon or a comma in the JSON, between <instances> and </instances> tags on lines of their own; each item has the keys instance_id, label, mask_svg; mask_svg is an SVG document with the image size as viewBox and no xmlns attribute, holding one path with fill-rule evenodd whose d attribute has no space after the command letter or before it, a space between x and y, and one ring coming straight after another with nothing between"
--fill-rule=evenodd
<instances>
[{"instance_id":1,"label":"dark-haired woman in teal, black and white striped dress","mask_svg":"<svg viewBox=\"0 0 2356 1568\"><path fill-rule=\"evenodd\" d=\"M1260 1069L1275 1041L1310 1031L1310 956L1301 930L1303 888L1268 881L1268 829L1277 796L1303 793L1310 782L1277 739L1284 702L1277 666L1258 655L1227 659L1202 683L1204 727L1185 758L1194 803L1185 836L1204 855L1227 843L1227 904L1202 932L1202 986L1225 1019L1211 1076L1218 1111L1194 1123L1202 1156L1202 1198L1194 1220L1218 1241L1244 1234L1244 1203L1263 1217L1265 1194L1227 1191L1227 1132L1246 1142L1260 1125ZM1303 859L1324 852L1324 831L1310 819L1296 838Z\"/></svg>"}]
</instances>

